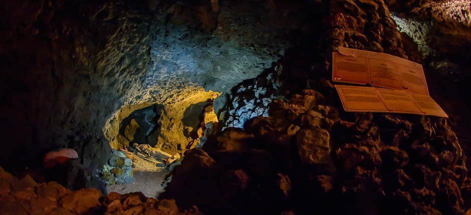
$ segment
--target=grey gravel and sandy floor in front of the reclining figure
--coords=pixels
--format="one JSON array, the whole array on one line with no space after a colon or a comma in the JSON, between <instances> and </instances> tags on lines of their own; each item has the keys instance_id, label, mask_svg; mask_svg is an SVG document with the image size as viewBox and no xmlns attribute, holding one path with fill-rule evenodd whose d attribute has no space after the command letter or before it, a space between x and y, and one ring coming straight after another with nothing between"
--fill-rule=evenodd
<instances>
[{"instance_id":1,"label":"grey gravel and sandy floor in front of the reclining figure","mask_svg":"<svg viewBox=\"0 0 471 215\"><path fill-rule=\"evenodd\" d=\"M129 184L108 185L109 192L128 193L142 192L147 197L156 198L163 191L162 182L168 173L163 167L157 167L154 163L135 156L134 181Z\"/></svg>"}]
</instances>

